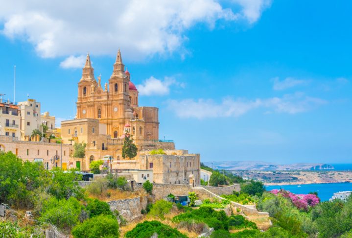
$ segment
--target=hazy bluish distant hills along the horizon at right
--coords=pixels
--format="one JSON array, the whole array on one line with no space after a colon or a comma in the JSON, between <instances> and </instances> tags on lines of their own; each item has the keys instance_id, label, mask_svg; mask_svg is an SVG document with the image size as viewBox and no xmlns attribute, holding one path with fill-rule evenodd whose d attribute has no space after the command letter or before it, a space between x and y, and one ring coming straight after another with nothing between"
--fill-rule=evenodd
<instances>
[{"instance_id":1,"label":"hazy bluish distant hills along the horizon at right","mask_svg":"<svg viewBox=\"0 0 352 238\"><path fill-rule=\"evenodd\" d=\"M203 162L211 167L211 162ZM214 169L226 170L324 170L334 169L333 166L321 163L297 163L291 165L279 165L262 161L219 161L213 162Z\"/></svg>"}]
</instances>

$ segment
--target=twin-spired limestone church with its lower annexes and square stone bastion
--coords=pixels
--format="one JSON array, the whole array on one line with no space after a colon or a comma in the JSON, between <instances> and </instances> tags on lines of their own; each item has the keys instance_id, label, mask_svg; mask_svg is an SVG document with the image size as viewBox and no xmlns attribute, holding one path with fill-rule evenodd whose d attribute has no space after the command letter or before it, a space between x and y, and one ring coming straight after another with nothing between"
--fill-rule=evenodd
<instances>
[{"instance_id":1,"label":"twin-spired limestone church with its lower annexes and square stone bastion","mask_svg":"<svg viewBox=\"0 0 352 238\"><path fill-rule=\"evenodd\" d=\"M159 140L158 113L156 107L139 106L138 90L131 82L130 72L124 69L120 50L113 73L104 86L100 75L95 79L88 54L78 82L77 115L73 120L61 122L62 140L87 144L85 158L72 161L81 162L82 170L89 170L94 160L111 156L111 168L153 170L156 183L188 184L191 176L199 184L200 155L175 150L173 141ZM132 136L138 148L135 158L122 158L126 135ZM148 154L155 149L164 149L167 154Z\"/></svg>"}]
</instances>

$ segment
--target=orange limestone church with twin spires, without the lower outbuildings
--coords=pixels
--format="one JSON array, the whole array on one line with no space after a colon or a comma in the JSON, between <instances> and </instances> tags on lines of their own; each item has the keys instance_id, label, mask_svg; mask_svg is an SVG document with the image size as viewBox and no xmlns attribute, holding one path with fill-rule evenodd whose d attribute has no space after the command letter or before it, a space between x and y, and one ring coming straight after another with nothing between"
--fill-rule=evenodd
<instances>
[{"instance_id":1,"label":"orange limestone church with twin spires, without the lower outbuildings","mask_svg":"<svg viewBox=\"0 0 352 238\"><path fill-rule=\"evenodd\" d=\"M125 71L121 52L118 50L113 73L101 85L101 76L94 77L90 55L87 55L82 77L78 82L76 119L98 119L106 124L106 134L111 138L123 138L126 126L135 140L159 139L158 108L139 107L138 90L131 82L131 74ZM73 135L74 135L73 131Z\"/></svg>"}]
</instances>

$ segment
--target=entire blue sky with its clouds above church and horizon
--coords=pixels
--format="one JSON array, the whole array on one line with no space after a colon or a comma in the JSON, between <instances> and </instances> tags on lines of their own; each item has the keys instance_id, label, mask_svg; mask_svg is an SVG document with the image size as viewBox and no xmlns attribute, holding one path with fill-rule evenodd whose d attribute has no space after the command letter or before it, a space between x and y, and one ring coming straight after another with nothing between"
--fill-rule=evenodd
<instances>
[{"instance_id":1,"label":"entire blue sky with its clouds above church and horizon","mask_svg":"<svg viewBox=\"0 0 352 238\"><path fill-rule=\"evenodd\" d=\"M352 162L350 1L0 0L0 93L74 117L117 49L160 139L201 161Z\"/></svg>"}]
</instances>

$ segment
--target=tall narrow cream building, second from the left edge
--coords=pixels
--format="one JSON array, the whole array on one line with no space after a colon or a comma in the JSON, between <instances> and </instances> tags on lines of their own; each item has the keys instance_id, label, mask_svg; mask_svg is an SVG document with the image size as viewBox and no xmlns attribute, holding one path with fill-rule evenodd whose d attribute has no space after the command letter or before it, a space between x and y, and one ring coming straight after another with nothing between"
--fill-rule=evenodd
<instances>
[{"instance_id":1,"label":"tall narrow cream building, second from the left edge","mask_svg":"<svg viewBox=\"0 0 352 238\"><path fill-rule=\"evenodd\" d=\"M21 111L21 140L24 140L24 137L32 135L35 129L40 129L40 102L28 99L18 105Z\"/></svg>"}]
</instances>

